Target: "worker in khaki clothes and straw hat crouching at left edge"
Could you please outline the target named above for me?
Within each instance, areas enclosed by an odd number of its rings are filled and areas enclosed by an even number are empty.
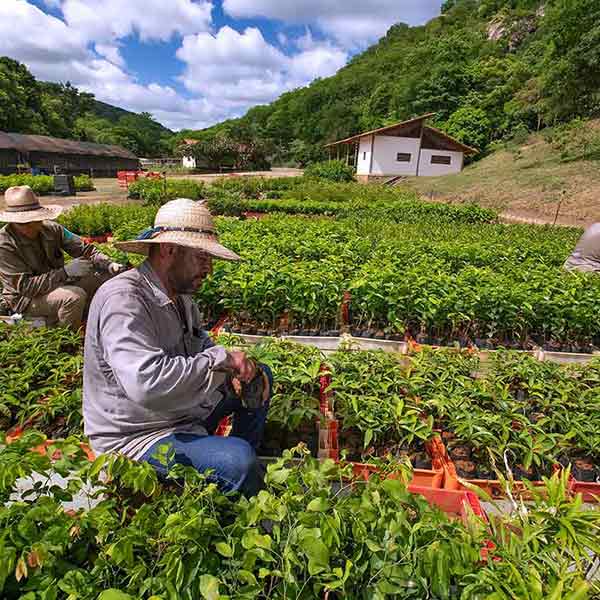
[[[44,317],[77,329],[100,285],[124,270],[55,219],[60,206],[42,206],[29,186],[4,194],[0,221],[0,282],[12,313]],[[74,258],[65,265],[63,252]]]

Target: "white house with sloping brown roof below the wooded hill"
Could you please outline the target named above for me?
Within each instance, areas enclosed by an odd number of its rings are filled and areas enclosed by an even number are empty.
[[[432,116],[430,113],[327,144],[329,156],[353,162],[356,178],[365,183],[402,175],[460,173],[465,155],[476,154],[477,150],[425,125]]]

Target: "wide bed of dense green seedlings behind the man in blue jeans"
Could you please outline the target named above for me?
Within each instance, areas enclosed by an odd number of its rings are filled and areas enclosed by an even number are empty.
[[[63,222],[89,235],[98,220],[99,229],[125,239],[150,225],[155,211],[78,207]],[[197,295],[207,324],[228,314],[237,331],[259,335],[345,328],[484,349],[590,352],[600,345],[598,278],[562,270],[576,229],[281,215],[222,218],[218,228],[244,260],[215,263]]]

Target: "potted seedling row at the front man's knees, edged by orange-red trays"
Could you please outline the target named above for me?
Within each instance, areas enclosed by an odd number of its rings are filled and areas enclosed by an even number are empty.
[[[0,328],[3,429],[35,426],[49,437],[81,433],[81,339],[63,329]],[[243,345],[235,335],[218,343]],[[276,386],[266,456],[304,442],[316,455],[321,376],[330,371],[339,448],[357,462],[392,455],[431,469],[426,444],[441,433],[458,475],[539,480],[554,465],[576,479],[600,478],[600,360],[563,366],[499,352],[484,369],[472,351],[424,350],[412,356],[339,351],[271,339],[248,347],[268,364]],[[330,388],[330,389],[329,389]],[[322,424],[324,426],[324,423]]]

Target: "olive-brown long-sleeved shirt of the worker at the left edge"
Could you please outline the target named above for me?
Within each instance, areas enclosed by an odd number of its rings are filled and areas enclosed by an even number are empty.
[[[31,300],[67,283],[63,251],[87,258],[100,270],[110,259],[78,235],[54,221],[44,221],[40,236],[31,240],[10,225],[0,230],[0,282],[2,296],[16,313],[24,313]]]

